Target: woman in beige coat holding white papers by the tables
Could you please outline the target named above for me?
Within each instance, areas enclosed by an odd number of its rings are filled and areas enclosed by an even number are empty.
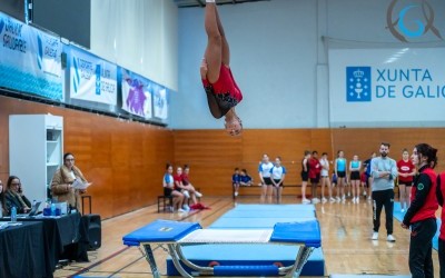
[[[75,156],[70,152],[63,155],[63,165],[56,170],[51,182],[52,198],[57,201],[67,201],[71,209],[80,210],[80,195],[85,193],[86,189],[75,189],[72,183],[79,179],[87,183],[87,179],[79,168],[75,166]]]

